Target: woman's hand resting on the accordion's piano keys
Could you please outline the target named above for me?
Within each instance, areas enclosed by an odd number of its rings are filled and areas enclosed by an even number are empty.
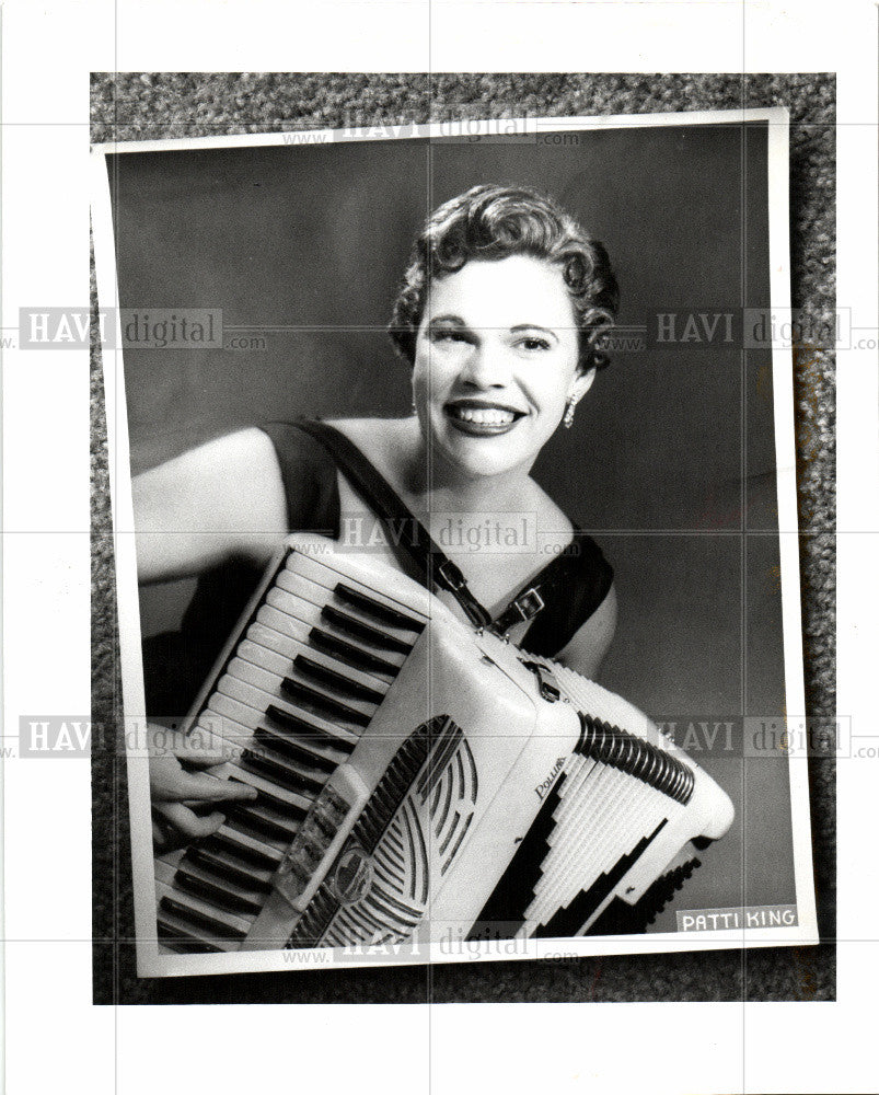
[[[184,735],[163,726],[148,726],[150,793],[153,807],[153,840],[164,851],[182,842],[216,832],[225,820],[220,810],[200,816],[193,809],[208,803],[253,800],[256,788],[207,772],[188,772],[183,764],[200,768],[222,764],[228,750],[217,739],[195,729]],[[182,763],[183,762],[183,763]]]

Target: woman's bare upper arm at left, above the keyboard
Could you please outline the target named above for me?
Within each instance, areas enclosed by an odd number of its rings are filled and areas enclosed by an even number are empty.
[[[141,583],[197,575],[234,555],[267,561],[287,533],[278,459],[256,428],[143,472],[132,493]]]

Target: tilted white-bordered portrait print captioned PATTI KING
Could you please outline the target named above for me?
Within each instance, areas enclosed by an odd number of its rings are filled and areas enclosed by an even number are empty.
[[[139,976],[817,942],[787,124],[95,147]]]

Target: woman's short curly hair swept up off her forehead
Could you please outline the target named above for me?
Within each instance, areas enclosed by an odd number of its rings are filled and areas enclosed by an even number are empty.
[[[453,274],[470,260],[531,255],[562,269],[580,337],[579,368],[610,364],[606,336],[620,290],[608,252],[552,198],[523,186],[474,186],[436,209],[415,241],[388,332],[412,365],[432,278]]]

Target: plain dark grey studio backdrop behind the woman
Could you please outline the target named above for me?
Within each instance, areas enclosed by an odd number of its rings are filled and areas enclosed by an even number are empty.
[[[224,349],[126,350],[132,472],[265,417],[408,413],[384,324],[424,217],[476,183],[547,191],[608,246],[641,339],[536,468],[616,573],[602,683],[679,725],[780,715],[771,359],[742,354],[738,324],[770,302],[766,143],[764,124],[724,124],[111,158],[120,306],[221,309],[227,332]],[[680,334],[691,312],[733,313],[736,337],[658,342],[660,313]],[[234,326],[263,342],[233,348]],[[144,635],[192,588],[143,590]],[[787,765],[694,756],[737,820],[676,907],[793,902]]]

